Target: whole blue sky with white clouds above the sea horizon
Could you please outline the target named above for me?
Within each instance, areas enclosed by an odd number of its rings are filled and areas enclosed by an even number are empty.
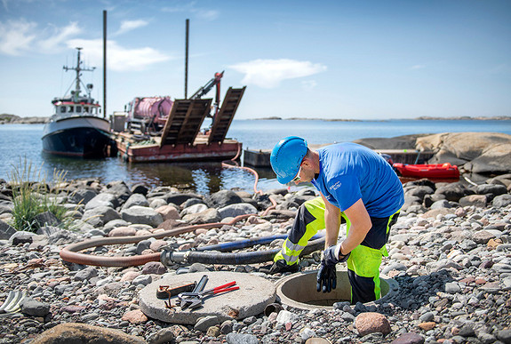
[[[225,70],[236,119],[511,116],[508,0],[1,0],[0,114],[51,116],[82,47],[107,113],[188,96]],[[213,98],[210,92],[204,98]]]

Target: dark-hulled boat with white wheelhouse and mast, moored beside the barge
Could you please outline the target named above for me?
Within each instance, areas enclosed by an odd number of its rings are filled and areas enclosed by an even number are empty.
[[[110,123],[100,116],[100,104],[91,97],[92,84],[84,85],[80,79],[81,72],[94,68],[82,68],[82,48],[76,50],[76,67],[64,66],[66,71],[76,71],[75,89],[69,95],[52,100],[54,114],[44,125],[43,151],[55,156],[110,156],[111,148],[115,148],[109,134]]]

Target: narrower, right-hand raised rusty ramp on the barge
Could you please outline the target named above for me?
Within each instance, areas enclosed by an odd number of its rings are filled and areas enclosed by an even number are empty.
[[[222,102],[219,114],[215,116],[213,120],[212,132],[210,132],[208,143],[223,142],[226,138],[229,126],[236,114],[236,109],[244,95],[245,88],[246,86],[244,88],[229,87],[226,97]]]

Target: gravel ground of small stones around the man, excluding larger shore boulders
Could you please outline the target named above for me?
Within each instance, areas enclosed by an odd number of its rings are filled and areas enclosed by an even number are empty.
[[[347,302],[338,302],[331,310],[311,311],[283,305],[278,316],[276,313],[260,314],[221,324],[207,317],[187,326],[148,319],[139,309],[138,292],[164,274],[204,269],[252,273],[272,281],[282,276],[261,272],[267,264],[220,266],[196,263],[171,268],[164,268],[157,262],[131,268],[64,264],[59,252],[67,244],[91,237],[112,236],[114,229],[134,230],[137,235],[162,230],[156,229],[160,225],[148,225],[147,218],[135,223],[126,221],[124,215],[120,216],[122,219],[107,223],[87,222],[80,218],[80,214],[88,210],[80,209],[76,215],[78,231],[46,227],[40,235],[18,232],[8,240],[0,240],[0,303],[11,291],[24,291],[28,295],[20,313],[0,315],[0,343],[29,343],[45,330],[67,323],[117,329],[150,343],[301,343],[311,337],[332,343],[511,343],[511,200],[508,191],[478,194],[473,188],[473,193],[465,192],[467,195],[453,201],[438,196],[444,184],[427,184],[427,187],[431,190],[424,192],[426,186],[421,183],[404,186],[407,203],[392,229],[387,244],[389,256],[384,258],[381,266],[382,273],[399,284],[399,292],[385,302],[353,307]],[[96,185],[95,198],[104,195],[104,189],[104,186]],[[230,219],[226,207],[247,204],[249,197],[241,195],[243,199],[238,204],[220,207],[212,204],[213,196],[205,204],[189,202],[191,205],[181,203],[175,206],[168,202],[168,197],[161,196],[169,195],[169,192],[172,194],[176,190],[150,190],[143,196],[147,204],[137,193],[131,192],[124,200],[117,195],[117,200],[121,201],[110,208],[124,212],[126,204],[136,194],[142,202],[138,203],[139,207],[172,206],[179,210],[181,219],[189,214],[204,216],[204,212],[217,209],[223,214],[220,218],[226,221]],[[163,245],[187,249],[285,234],[292,222],[289,211],[296,210],[296,206],[311,197],[312,191],[302,189],[287,195],[285,190],[274,192],[272,196],[279,204],[278,210],[263,219],[252,217],[234,226],[199,229],[195,233],[165,240],[149,239],[139,244],[100,246],[86,252],[130,256],[158,252]],[[484,202],[480,196],[485,197]],[[258,202],[259,206],[264,203]],[[63,203],[69,204],[69,200]],[[204,206],[201,208],[197,204]],[[252,207],[255,205],[252,202]],[[189,208],[194,206],[202,210],[191,211]],[[188,212],[184,212],[185,209]],[[161,220],[168,217],[168,212],[161,209],[159,212],[163,214]],[[0,219],[9,220],[8,212],[4,212]],[[282,240],[276,240],[270,248],[280,247],[280,244]],[[260,249],[263,247],[252,248]],[[316,269],[318,262],[319,254],[314,253],[303,258],[300,267],[302,270]],[[390,329],[379,330],[378,324],[372,324],[374,332],[362,335],[362,323],[355,319],[368,312],[384,316]]]

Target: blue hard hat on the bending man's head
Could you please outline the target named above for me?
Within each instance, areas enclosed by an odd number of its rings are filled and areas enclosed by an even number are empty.
[[[269,157],[276,179],[289,183],[299,172],[299,165],[307,154],[307,141],[298,136],[288,136],[278,141]]]

